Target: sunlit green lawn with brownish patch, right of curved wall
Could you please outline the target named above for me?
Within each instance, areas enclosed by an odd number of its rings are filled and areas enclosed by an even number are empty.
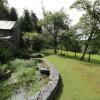
[[[45,58],[56,66],[62,77],[58,100],[100,100],[100,64],[56,55]]]

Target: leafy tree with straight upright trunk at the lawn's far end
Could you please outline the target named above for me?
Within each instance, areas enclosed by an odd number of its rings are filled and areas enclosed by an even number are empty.
[[[64,12],[44,12],[44,19],[41,21],[43,31],[48,33],[53,41],[54,53],[57,53],[59,34],[62,30],[68,29],[69,18]]]

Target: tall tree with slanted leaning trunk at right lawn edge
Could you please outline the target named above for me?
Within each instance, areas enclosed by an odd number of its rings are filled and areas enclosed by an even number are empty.
[[[93,37],[96,37],[99,29],[100,23],[100,0],[95,0],[90,2],[88,0],[77,0],[71,8],[77,8],[79,10],[84,10],[86,14],[80,20],[80,29],[83,34],[87,34],[87,40],[85,42],[85,49],[81,60],[84,60],[85,54],[90,46]]]

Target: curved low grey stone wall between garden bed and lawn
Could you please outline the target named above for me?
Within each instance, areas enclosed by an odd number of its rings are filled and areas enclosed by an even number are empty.
[[[50,76],[49,82],[47,85],[41,88],[35,95],[29,97],[28,100],[53,100],[55,97],[60,83],[60,76],[58,71],[55,69],[53,64],[50,64],[46,60],[43,62],[49,67],[50,69]]]

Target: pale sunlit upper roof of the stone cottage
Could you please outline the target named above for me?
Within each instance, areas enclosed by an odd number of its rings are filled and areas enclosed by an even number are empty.
[[[2,20],[0,20],[0,29],[11,30],[14,27],[15,23],[16,23],[16,21],[2,21]]]

